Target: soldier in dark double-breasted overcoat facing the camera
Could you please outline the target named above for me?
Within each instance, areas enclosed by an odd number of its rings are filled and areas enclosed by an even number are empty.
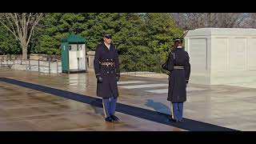
[[[120,78],[118,50],[112,44],[112,35],[104,34],[103,42],[95,50],[94,71],[97,78],[97,95],[102,98],[102,106],[107,122],[118,121],[114,115],[118,99]]]

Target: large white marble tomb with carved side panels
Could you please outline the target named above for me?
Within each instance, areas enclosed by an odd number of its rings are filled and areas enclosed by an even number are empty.
[[[190,83],[256,82],[256,29],[201,28],[185,37]]]

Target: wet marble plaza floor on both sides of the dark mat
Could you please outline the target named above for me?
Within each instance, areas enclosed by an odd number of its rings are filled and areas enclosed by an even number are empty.
[[[94,73],[38,74],[0,67],[0,78],[98,98]],[[166,78],[122,75],[118,102],[170,114],[167,88]],[[234,130],[256,130],[255,102],[254,88],[189,84],[184,117]],[[123,112],[116,115],[120,122],[105,122],[101,107],[0,81],[0,130],[188,130]]]

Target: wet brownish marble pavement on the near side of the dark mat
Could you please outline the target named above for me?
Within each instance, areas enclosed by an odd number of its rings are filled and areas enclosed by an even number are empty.
[[[0,82],[0,130],[170,130],[173,126],[118,113],[105,122],[102,108]]]

